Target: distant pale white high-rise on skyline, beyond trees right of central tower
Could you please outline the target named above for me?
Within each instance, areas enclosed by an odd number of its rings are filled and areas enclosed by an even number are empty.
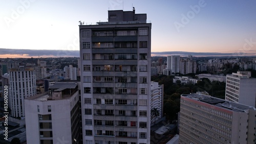
[[[170,74],[180,73],[180,56],[167,56],[167,67]]]

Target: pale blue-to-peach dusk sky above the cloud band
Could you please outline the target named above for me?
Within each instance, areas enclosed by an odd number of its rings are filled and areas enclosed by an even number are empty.
[[[79,50],[79,20],[108,21],[108,10],[146,13],[152,52],[251,53],[256,1],[0,0],[0,48]],[[2,55],[6,57],[7,54]],[[1,57],[1,50],[0,50]]]

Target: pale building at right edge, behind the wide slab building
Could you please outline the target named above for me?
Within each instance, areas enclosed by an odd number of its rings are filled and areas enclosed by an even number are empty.
[[[237,71],[226,76],[225,100],[256,106],[256,79],[251,78],[251,71]]]

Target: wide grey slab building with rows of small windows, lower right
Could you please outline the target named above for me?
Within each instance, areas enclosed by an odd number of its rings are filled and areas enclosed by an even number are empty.
[[[179,143],[255,143],[256,109],[203,94],[182,94]]]

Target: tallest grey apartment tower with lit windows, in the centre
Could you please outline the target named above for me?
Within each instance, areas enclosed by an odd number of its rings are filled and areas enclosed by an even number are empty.
[[[151,23],[146,14],[108,11],[80,25],[84,143],[150,143]]]

